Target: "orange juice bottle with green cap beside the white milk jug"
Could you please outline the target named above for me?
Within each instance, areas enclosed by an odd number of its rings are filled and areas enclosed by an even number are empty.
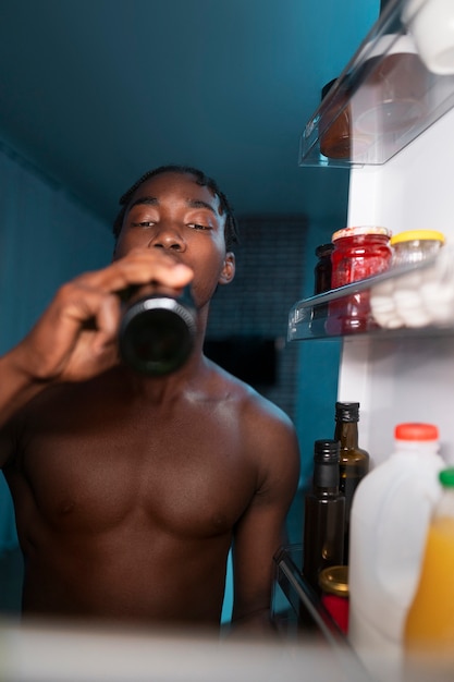
[[[419,585],[408,611],[409,650],[454,650],[454,468],[440,472],[442,495],[426,539]]]

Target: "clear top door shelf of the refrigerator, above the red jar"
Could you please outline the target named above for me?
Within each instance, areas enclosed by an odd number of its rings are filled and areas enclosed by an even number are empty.
[[[386,5],[324,96],[300,137],[300,166],[382,165],[454,106],[454,74],[425,66],[404,5]]]

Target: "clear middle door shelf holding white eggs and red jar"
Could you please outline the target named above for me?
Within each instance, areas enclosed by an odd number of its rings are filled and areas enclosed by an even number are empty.
[[[357,309],[363,324],[355,328]],[[345,317],[354,320],[348,331]],[[449,246],[435,257],[299,301],[289,314],[289,341],[453,334],[454,249]]]

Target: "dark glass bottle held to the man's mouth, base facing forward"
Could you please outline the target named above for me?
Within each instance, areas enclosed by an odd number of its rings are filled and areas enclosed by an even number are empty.
[[[187,361],[195,334],[196,309],[188,287],[179,299],[154,285],[139,288],[123,313],[120,354],[140,374],[164,376]]]

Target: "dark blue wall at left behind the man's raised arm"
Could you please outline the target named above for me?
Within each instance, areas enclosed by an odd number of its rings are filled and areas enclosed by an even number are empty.
[[[11,149],[0,146],[0,353],[27,333],[57,288],[109,263],[105,224]],[[9,489],[0,476],[0,551],[17,538]]]

